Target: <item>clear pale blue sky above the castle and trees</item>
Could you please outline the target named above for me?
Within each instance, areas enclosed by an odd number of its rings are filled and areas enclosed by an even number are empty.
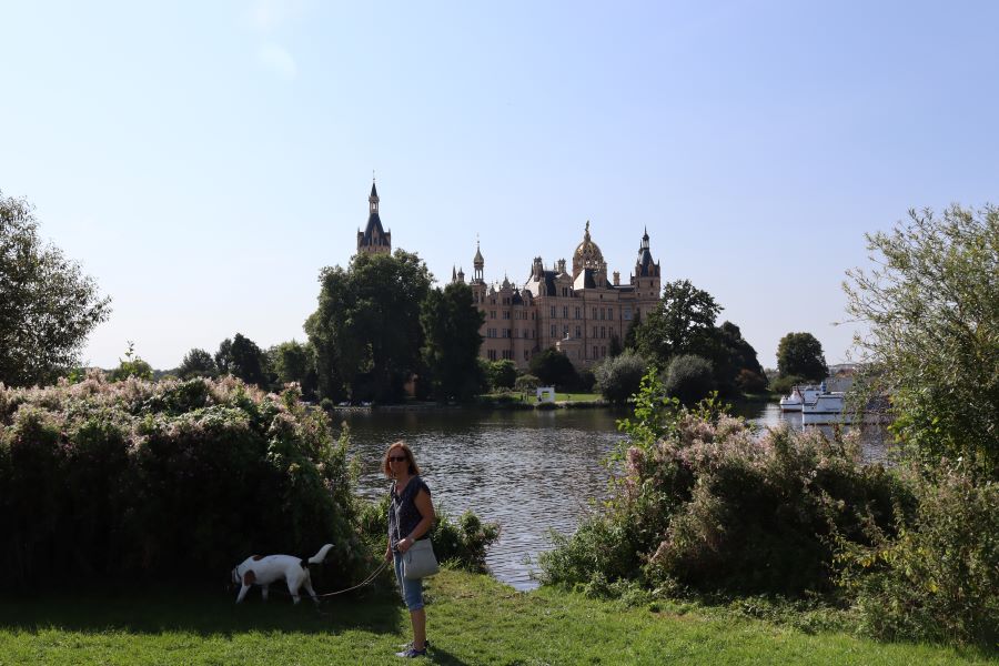
[[[440,280],[583,226],[829,362],[864,233],[997,202],[999,3],[4,2],[0,189],[113,299],[85,360],[304,340],[372,170]],[[625,278],[626,279],[626,278]]]

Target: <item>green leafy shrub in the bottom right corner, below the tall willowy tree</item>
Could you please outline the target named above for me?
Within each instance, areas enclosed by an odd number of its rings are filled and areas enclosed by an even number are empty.
[[[936,482],[912,475],[915,517],[897,516],[892,538],[840,539],[839,583],[856,596],[862,628],[879,638],[999,639],[999,485],[960,468]]]

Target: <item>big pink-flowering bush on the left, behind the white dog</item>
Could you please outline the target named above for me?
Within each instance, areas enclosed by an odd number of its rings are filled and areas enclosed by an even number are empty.
[[[221,581],[324,543],[326,574],[352,577],[346,442],[299,397],[232,377],[0,384],[0,586]]]

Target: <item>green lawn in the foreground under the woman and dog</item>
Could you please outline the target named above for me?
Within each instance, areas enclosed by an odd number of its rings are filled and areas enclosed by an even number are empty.
[[[387,594],[311,604],[223,593],[0,602],[0,664],[397,664],[408,615]],[[729,612],[517,593],[445,571],[427,584],[433,664],[983,664],[977,650],[810,635]]]

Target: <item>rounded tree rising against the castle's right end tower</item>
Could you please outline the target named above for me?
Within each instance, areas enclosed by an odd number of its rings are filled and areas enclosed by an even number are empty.
[[[715,320],[722,310],[714,296],[689,280],[667,283],[658,307],[635,332],[638,352],[658,367],[678,354],[715,356],[719,344]]]

